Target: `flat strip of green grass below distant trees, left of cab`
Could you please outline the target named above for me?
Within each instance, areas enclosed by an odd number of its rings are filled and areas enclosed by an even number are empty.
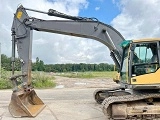
[[[69,72],[59,73],[59,76],[69,78],[113,78],[116,75],[116,71],[103,71],[103,72]]]

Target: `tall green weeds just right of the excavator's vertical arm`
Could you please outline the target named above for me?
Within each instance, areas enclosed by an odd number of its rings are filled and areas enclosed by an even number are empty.
[[[33,72],[32,85],[35,88],[52,88],[56,86],[54,79],[53,76],[48,75],[47,73]]]

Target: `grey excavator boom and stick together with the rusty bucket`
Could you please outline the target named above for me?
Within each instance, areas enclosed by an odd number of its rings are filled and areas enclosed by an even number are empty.
[[[34,17],[29,17],[27,10],[44,13],[49,16],[56,16],[68,20],[42,20]],[[83,18],[66,15],[50,9],[49,12],[43,12],[33,9],[24,8],[22,5],[18,7],[13,24],[12,24],[12,77],[14,92],[12,94],[10,112],[13,116],[21,116],[18,112],[13,112],[16,102],[28,101],[32,103],[32,107],[41,105],[39,109],[43,109],[43,102],[36,96],[36,93],[31,86],[31,61],[32,61],[32,33],[33,30],[58,33],[82,38],[90,38],[97,40],[106,45],[110,50],[110,55],[113,58],[118,69],[121,66],[122,48],[120,43],[124,40],[123,36],[110,25],[99,22],[92,18]],[[17,45],[18,55],[21,61],[22,74],[14,75],[15,47]],[[22,84],[18,85],[17,78],[21,77]],[[19,93],[22,93],[19,95]],[[23,96],[23,97],[21,97]],[[25,97],[24,97],[25,96]],[[22,98],[22,99],[21,99]],[[21,101],[17,101],[17,100]],[[14,101],[14,102],[13,102]],[[37,101],[38,104],[36,103]],[[22,102],[23,103],[23,102]],[[34,104],[33,104],[34,103]],[[18,110],[19,110],[19,105]],[[36,112],[31,113],[28,104],[24,105],[22,116],[36,116]],[[27,110],[24,110],[27,108]],[[18,111],[17,110],[17,111]],[[38,111],[40,111],[38,110]],[[17,114],[18,113],[18,114]]]

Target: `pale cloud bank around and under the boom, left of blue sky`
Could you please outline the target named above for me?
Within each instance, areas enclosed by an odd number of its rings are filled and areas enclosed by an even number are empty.
[[[0,42],[2,53],[11,56],[11,26],[13,13],[19,4],[26,8],[48,11],[52,8],[57,11],[78,16],[81,9],[86,9],[86,0],[1,0],[0,4]],[[38,4],[37,4],[38,3]],[[60,19],[44,14],[29,12],[29,16],[41,19]],[[34,31],[32,58],[42,59],[45,63],[112,63],[108,48],[95,40],[82,39],[66,35],[51,34]]]

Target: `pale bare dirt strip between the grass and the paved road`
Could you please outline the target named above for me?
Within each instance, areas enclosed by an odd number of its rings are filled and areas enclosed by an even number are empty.
[[[111,78],[67,78],[55,76],[56,88],[111,88],[118,86]]]

